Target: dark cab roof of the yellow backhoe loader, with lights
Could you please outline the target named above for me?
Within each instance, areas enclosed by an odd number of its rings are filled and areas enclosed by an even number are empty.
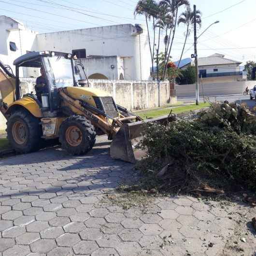
[[[14,66],[22,67],[32,67],[40,68],[42,66],[41,56],[47,57],[52,56],[52,52],[43,51],[43,52],[29,52],[24,54],[14,60]],[[67,57],[68,53],[54,52],[55,56],[64,56]]]

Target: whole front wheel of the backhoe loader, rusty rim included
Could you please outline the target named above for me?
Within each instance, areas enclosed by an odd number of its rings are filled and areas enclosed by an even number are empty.
[[[84,116],[72,115],[59,128],[61,147],[72,155],[85,155],[92,149],[95,141],[95,128]]]

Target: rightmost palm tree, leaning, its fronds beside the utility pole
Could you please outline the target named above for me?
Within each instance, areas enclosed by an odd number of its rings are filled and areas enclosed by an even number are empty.
[[[200,28],[201,28],[201,23],[202,23],[201,15],[202,15],[202,13],[199,10],[197,10],[196,11],[196,23],[199,24]],[[192,24],[194,24],[194,12],[191,10],[190,6],[187,6],[186,11],[183,12],[182,14],[180,14],[179,19],[178,19],[178,26],[181,23],[183,23],[186,26],[186,32],[185,32],[185,42],[184,42],[184,45],[183,45],[183,49],[182,49],[181,57],[180,57],[180,60],[179,60],[178,68],[180,66],[180,62],[181,62],[181,59],[182,59],[182,56],[183,56],[183,52],[184,52],[187,37],[190,34],[189,27]]]

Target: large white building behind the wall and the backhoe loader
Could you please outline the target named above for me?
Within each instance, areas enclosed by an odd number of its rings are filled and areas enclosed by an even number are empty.
[[[149,80],[150,53],[140,25],[114,25],[38,34],[10,17],[0,16],[0,60],[12,66],[27,51],[75,51],[92,78]],[[2,36],[3,35],[3,36]],[[13,46],[15,45],[15,47]],[[90,56],[85,59],[85,56]],[[24,69],[23,76],[37,76]]]

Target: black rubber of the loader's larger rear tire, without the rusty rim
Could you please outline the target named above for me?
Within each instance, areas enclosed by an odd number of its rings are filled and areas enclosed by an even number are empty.
[[[18,145],[13,139],[12,124],[13,121],[17,119],[22,119],[28,126],[29,138],[26,145]],[[41,144],[40,142],[42,140],[42,128],[39,123],[40,120],[30,114],[27,110],[18,110],[11,114],[6,123],[6,131],[7,138],[16,152],[27,154],[39,150]]]

